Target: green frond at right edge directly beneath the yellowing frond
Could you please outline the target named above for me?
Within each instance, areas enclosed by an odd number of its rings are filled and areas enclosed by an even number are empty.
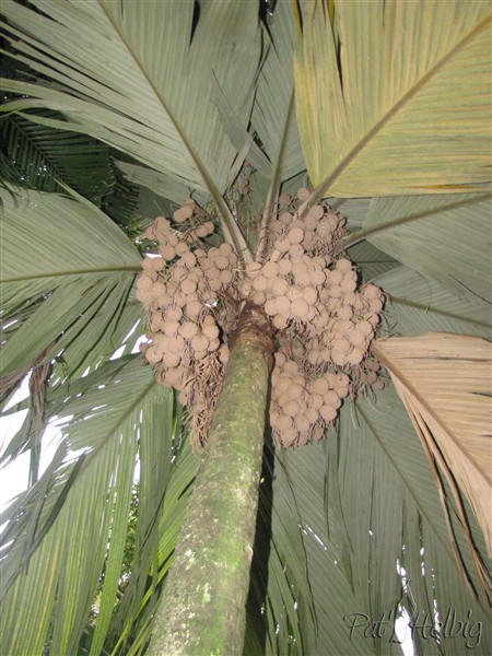
[[[490,211],[488,194],[377,198],[345,246],[367,238],[455,294],[490,300]]]

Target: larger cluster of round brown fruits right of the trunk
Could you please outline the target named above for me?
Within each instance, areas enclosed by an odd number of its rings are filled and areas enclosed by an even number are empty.
[[[271,224],[267,258],[246,267],[243,291],[279,330],[270,424],[274,444],[285,447],[319,438],[349,390],[376,382],[364,361],[384,296],[373,284],[358,291],[356,271],[341,256],[342,216],[317,204],[300,218],[302,192],[282,200],[293,211]]]

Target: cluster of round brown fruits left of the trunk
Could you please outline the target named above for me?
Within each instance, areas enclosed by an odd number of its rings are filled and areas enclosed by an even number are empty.
[[[191,212],[191,213],[190,213]],[[191,219],[192,206],[174,213],[175,223]],[[200,230],[201,229],[201,230]],[[157,218],[145,232],[157,243],[137,280],[137,298],[148,313],[148,342],[142,344],[160,383],[179,391],[192,430],[203,441],[209,409],[214,406],[229,348],[222,339],[237,298],[237,256],[229,244],[200,248],[213,223],[179,232]]]

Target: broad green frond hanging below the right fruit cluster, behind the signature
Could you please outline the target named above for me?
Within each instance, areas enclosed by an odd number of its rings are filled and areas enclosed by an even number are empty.
[[[360,400],[355,414],[343,408],[338,434],[286,456],[317,614],[314,653],[400,654],[390,614],[399,604],[410,616],[417,607],[421,620],[429,612],[429,623],[436,598],[444,616],[456,608],[458,614],[466,618],[470,611],[473,622],[489,625],[487,610],[469,595],[456,567],[426,458],[393,388],[380,395],[376,407]],[[484,550],[471,512],[470,523]],[[466,549],[462,540],[460,547]],[[469,558],[466,564],[479,586]],[[383,639],[372,640],[364,619],[382,618],[388,622]],[[351,633],[354,620],[363,625]],[[364,635],[365,629],[370,634]],[[442,640],[452,653],[466,648],[462,635],[458,643]],[[430,641],[423,642],[423,653],[433,653]]]

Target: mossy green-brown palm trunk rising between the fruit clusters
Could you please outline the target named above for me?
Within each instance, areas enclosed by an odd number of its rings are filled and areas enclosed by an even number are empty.
[[[255,538],[271,326],[246,304],[149,654],[242,654]]]

